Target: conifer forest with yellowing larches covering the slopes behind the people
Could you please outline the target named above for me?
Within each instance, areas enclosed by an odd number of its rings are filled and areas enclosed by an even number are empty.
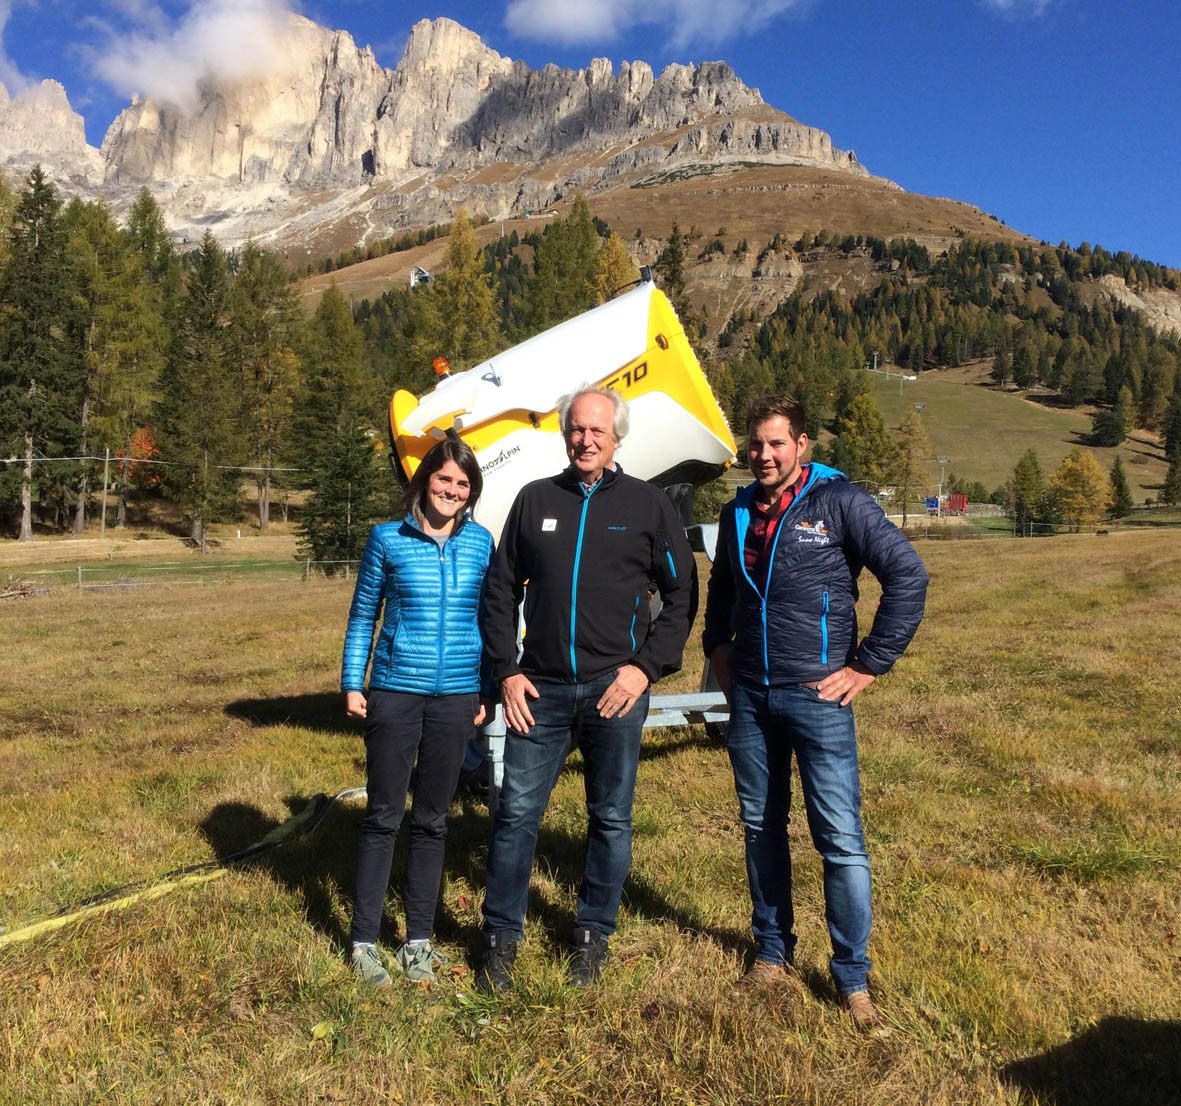
[[[0,181],[0,533],[84,532],[109,454],[116,525],[163,500],[202,540],[209,522],[243,516],[249,484],[254,525],[265,531],[272,500],[286,512],[299,492],[308,553],[355,555],[397,496],[383,456],[393,388],[422,392],[435,357],[477,364],[638,275],[582,197],[543,233],[482,249],[462,212],[419,236],[443,229],[443,269],[429,284],[357,305],[329,288],[308,315],[293,274],[256,245],[228,254],[207,233],[178,254],[146,190],[120,225],[102,203],[64,200],[39,169],[19,188]],[[379,253],[416,243],[403,235]],[[805,281],[766,318],[710,320],[686,271],[727,248],[674,226],[655,268],[737,428],[752,397],[794,391],[813,437],[833,435],[827,460],[864,482],[896,479],[908,447],[886,430],[862,366],[874,353],[914,372],[984,358],[999,385],[1094,405],[1100,444],[1137,427],[1161,432],[1172,462],[1162,499],[1181,497],[1181,341],[1096,294],[1107,274],[1175,291],[1175,271],[1087,243],[961,240],[932,256],[909,240],[821,229],[777,235],[752,264],[836,253],[880,274],[872,291],[850,301]],[[733,252],[752,251],[742,241]]]

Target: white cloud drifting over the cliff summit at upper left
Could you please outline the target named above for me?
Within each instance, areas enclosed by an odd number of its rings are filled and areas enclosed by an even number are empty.
[[[116,6],[132,30],[110,33],[89,59],[96,76],[124,96],[191,111],[202,82],[242,80],[283,64],[291,11],[285,0],[194,0],[180,19],[148,0],[117,0]]]

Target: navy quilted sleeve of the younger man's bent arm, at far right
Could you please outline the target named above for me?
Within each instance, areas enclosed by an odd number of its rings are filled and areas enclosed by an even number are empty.
[[[875,676],[890,670],[919,629],[927,570],[903,534],[868,495],[856,489],[844,519],[846,555],[864,565],[882,586],[874,624],[855,650]]]

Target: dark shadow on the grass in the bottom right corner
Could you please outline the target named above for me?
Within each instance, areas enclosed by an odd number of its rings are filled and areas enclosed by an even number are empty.
[[[1167,1106],[1181,1102],[1181,1022],[1104,1017],[1038,1056],[1000,1069],[1048,1106]]]

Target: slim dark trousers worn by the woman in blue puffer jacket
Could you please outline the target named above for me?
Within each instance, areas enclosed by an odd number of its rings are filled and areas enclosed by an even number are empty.
[[[351,937],[377,941],[385,892],[390,886],[393,845],[406,809],[410,774],[418,760],[415,804],[410,811],[406,858],[406,939],[435,932],[435,906],[443,878],[443,845],[459,766],[479,697],[409,695],[370,690],[365,720],[365,767],[368,806],[357,848],[357,890]]]

